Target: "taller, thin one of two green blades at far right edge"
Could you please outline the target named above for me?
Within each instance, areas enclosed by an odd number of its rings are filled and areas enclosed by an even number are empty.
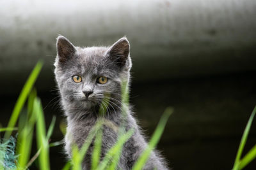
[[[253,117],[255,116],[255,113],[256,113],[256,106],[253,109],[252,115],[250,116],[250,118],[248,120],[248,123],[246,124],[246,127],[244,129],[244,133],[243,133],[243,136],[242,136],[242,139],[241,139],[241,142],[240,142],[237,154],[236,154],[236,160],[235,160],[233,169],[237,169],[237,165],[239,164],[239,161],[240,161],[243,149],[244,149],[244,145],[246,143],[246,140],[247,140],[247,137],[248,137],[251,125],[252,125],[252,120],[253,120]]]

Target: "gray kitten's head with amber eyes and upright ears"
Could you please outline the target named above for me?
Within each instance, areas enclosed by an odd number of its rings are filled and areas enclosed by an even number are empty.
[[[126,38],[110,47],[81,48],[58,36],[54,73],[64,110],[90,110],[106,94],[118,106],[121,84],[129,82],[131,65]]]

